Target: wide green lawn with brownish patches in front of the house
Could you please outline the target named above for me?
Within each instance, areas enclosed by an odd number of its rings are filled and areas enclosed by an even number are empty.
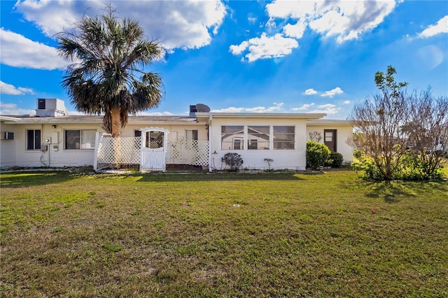
[[[1,297],[448,297],[446,181],[0,178]]]

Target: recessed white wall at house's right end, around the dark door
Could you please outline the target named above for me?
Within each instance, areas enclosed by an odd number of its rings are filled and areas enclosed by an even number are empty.
[[[307,125],[307,140],[309,140],[309,134],[311,132],[318,132],[321,134],[322,139],[320,143],[323,143],[323,131],[324,129],[337,129],[336,138],[336,151],[341,153],[344,157],[344,163],[349,164],[353,162],[353,148],[346,143],[346,140],[353,134],[353,128],[350,125],[335,125],[335,124],[314,124],[308,123]]]

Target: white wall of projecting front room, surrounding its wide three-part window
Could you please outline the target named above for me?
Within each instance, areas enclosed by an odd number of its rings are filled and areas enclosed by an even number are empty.
[[[274,125],[295,127],[294,150],[221,150],[221,126],[222,125]],[[225,164],[221,158],[228,152],[236,152],[244,161],[243,168],[268,169],[265,158],[274,159],[271,169],[303,170],[306,166],[306,120],[293,118],[213,118],[211,122],[211,168],[224,169]],[[247,139],[245,139],[247,142]]]

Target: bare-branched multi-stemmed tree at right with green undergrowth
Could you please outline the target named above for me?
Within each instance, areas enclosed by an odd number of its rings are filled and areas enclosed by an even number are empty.
[[[448,98],[435,99],[430,89],[409,93],[395,73],[388,66],[375,74],[381,93],[353,108],[349,120],[358,132],[348,143],[372,160],[383,180],[432,179],[448,150]]]

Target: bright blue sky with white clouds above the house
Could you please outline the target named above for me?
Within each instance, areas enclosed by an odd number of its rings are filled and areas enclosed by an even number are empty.
[[[66,63],[57,32],[104,1],[1,1],[0,108],[32,114],[58,98]],[[165,99],[141,115],[216,112],[327,113],[345,119],[377,93],[374,73],[397,70],[410,89],[448,95],[448,1],[111,1],[169,52]]]

